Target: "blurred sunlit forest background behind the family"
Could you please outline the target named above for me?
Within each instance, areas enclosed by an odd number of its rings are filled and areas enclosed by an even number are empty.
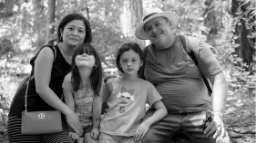
[[[176,12],[177,33],[210,45],[229,83],[225,123],[231,142],[256,142],[256,0],[0,0],[0,142],[8,142],[8,110],[31,71],[30,59],[44,44],[56,43],[56,25],[66,14],[87,17],[105,77],[113,77],[122,43],[149,43],[134,36],[147,7]]]

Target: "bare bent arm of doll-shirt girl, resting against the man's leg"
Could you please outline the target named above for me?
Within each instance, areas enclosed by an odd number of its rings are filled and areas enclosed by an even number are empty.
[[[156,111],[150,118],[146,119],[144,122],[142,122],[138,126],[138,129],[136,130],[134,135],[135,141],[138,141],[139,139],[144,138],[150,126],[155,122],[159,121],[160,119],[163,119],[168,114],[162,100],[156,101],[153,105]]]

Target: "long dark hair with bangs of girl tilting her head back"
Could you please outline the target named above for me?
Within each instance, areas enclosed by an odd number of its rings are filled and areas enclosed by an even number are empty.
[[[100,91],[102,79],[103,79],[103,71],[102,71],[102,66],[101,66],[101,62],[99,59],[99,55],[98,55],[97,51],[95,50],[95,48],[92,45],[90,45],[89,43],[82,43],[81,45],[79,45],[77,47],[77,49],[73,53],[72,65],[71,65],[71,74],[72,74],[71,81],[72,81],[73,91],[78,91],[80,88],[80,84],[81,84],[81,76],[77,69],[75,59],[78,54],[83,54],[83,53],[87,53],[89,55],[94,55],[94,57],[95,57],[95,66],[93,67],[93,70],[91,71],[89,80],[90,80],[91,88],[95,93],[95,96],[99,96],[99,91]]]

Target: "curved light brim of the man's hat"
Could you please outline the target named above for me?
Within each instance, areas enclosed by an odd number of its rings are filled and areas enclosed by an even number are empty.
[[[153,14],[153,15],[149,16],[146,20],[144,20],[141,24],[138,25],[138,27],[135,31],[135,36],[138,39],[148,40],[148,34],[145,33],[145,31],[144,31],[144,24],[146,24],[149,20],[151,20],[155,17],[166,17],[166,18],[168,18],[169,22],[171,24],[170,25],[171,28],[176,27],[179,24],[179,15],[175,14],[173,12],[164,11],[164,12],[159,13],[159,14]]]

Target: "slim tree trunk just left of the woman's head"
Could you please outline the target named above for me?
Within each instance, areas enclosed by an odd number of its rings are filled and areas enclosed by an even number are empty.
[[[56,0],[48,0],[48,17],[47,17],[47,41],[46,44],[54,45],[54,30],[53,23],[56,17]]]

